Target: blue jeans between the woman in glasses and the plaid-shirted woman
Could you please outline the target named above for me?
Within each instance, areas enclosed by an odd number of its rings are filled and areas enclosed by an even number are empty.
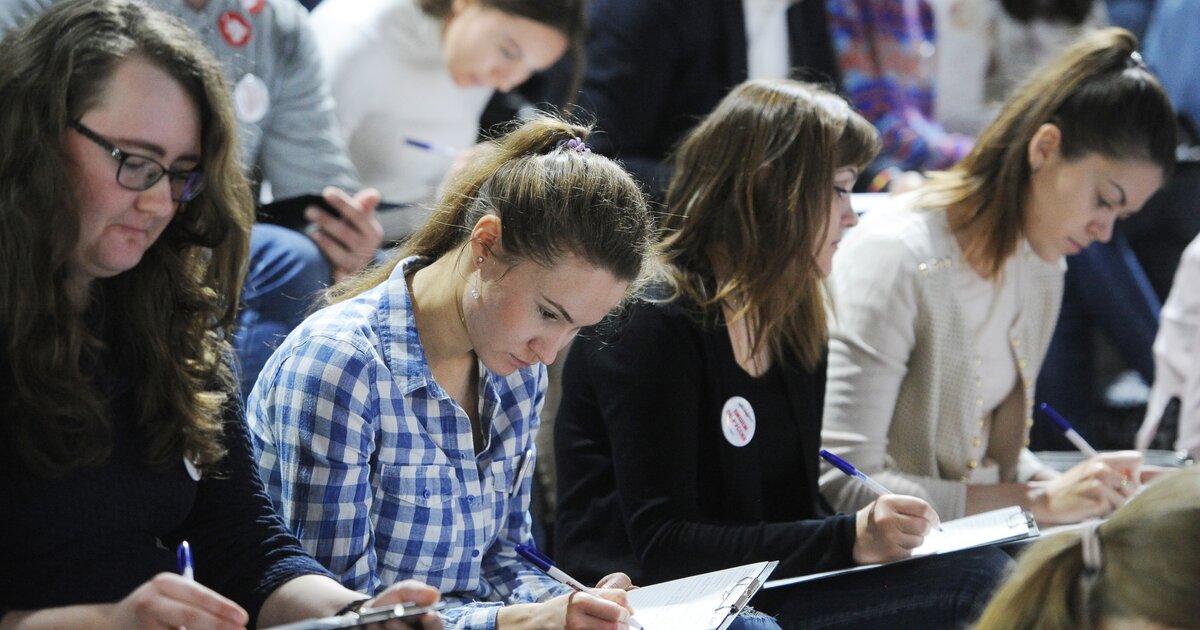
[[[329,262],[307,235],[278,226],[254,224],[233,336],[242,398],[250,396],[276,346],[300,325],[331,280]]]

